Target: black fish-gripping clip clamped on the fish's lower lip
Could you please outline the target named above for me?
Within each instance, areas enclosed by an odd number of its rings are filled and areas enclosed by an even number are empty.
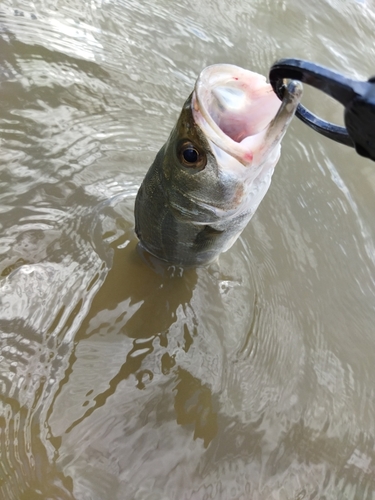
[[[282,99],[285,79],[299,80],[322,90],[344,107],[345,127],[329,123],[299,104],[296,116],[313,130],[375,161],[375,77],[351,80],[328,68],[301,59],[281,59],[271,68],[270,83]]]

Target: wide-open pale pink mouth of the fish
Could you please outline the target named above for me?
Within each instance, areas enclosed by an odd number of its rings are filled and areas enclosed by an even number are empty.
[[[294,82],[294,88],[286,93],[286,99],[299,100],[301,87]],[[280,102],[265,76],[231,64],[205,68],[192,97],[194,120],[206,138],[243,165],[251,164],[254,158],[259,162],[259,156],[266,150],[269,153],[270,146],[281,140],[280,127],[272,133],[272,125],[283,104],[285,108],[286,103]],[[284,132],[290,121],[287,114],[284,112],[280,120]],[[293,114],[294,109],[290,119]]]

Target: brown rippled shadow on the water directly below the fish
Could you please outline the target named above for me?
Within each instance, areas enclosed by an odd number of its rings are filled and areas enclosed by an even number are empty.
[[[112,269],[76,336],[78,343],[113,335],[125,336],[128,339],[126,350],[124,348],[125,361],[66,432],[104,407],[120,383],[131,376],[139,390],[152,384],[160,386],[172,379],[177,424],[192,428],[194,439],[202,439],[207,447],[217,433],[211,389],[176,361],[176,352],[187,355],[197,336],[198,318],[191,302],[198,272],[155,262],[152,268],[140,257],[136,244],[132,238],[125,248],[112,245]],[[77,350],[69,371],[75,369],[76,356]],[[158,381],[154,380],[155,374]],[[66,379],[64,383],[69,381]]]

